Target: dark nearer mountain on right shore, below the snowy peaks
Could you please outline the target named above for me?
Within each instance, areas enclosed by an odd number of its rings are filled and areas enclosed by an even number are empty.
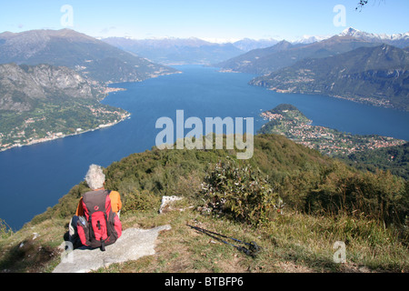
[[[250,84],[409,110],[409,52],[385,44],[363,46],[325,58],[305,58]]]

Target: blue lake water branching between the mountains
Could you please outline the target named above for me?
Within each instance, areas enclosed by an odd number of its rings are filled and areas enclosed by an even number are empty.
[[[321,95],[284,95],[247,85],[248,74],[218,73],[200,65],[176,66],[183,74],[165,75],[142,83],[125,83],[124,92],[108,95],[103,103],[132,114],[117,125],[62,139],[13,148],[0,153],[0,217],[18,229],[35,215],[54,206],[81,182],[88,166],[109,166],[133,153],[155,146],[159,117],[185,119],[254,117],[254,132],[264,120],[259,114],[282,103],[293,104],[314,125],[360,135],[386,135],[409,140],[409,113]],[[185,134],[190,131],[186,129]]]

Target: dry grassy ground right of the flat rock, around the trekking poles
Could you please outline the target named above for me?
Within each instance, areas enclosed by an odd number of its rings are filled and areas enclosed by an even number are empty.
[[[126,222],[128,221],[128,222]],[[99,272],[409,272],[409,252],[393,231],[364,217],[277,215],[268,226],[251,227],[195,210],[125,217],[130,226],[170,224],[159,236],[156,254],[115,264]],[[262,246],[252,258],[186,226],[186,223]],[[346,263],[334,263],[336,241],[346,244]]]

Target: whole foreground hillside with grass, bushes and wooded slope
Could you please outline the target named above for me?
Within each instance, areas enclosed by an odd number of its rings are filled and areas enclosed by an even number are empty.
[[[105,172],[107,186],[121,193],[124,228],[172,230],[159,236],[154,256],[100,272],[409,271],[408,183],[358,172],[284,136],[255,136],[249,161],[235,160],[232,150],[154,148]],[[0,228],[0,271],[51,271],[87,190],[85,182],[74,186],[16,233]],[[185,211],[159,215],[161,197],[172,195],[185,197]],[[263,250],[245,256],[186,223],[256,241]],[[335,241],[346,245],[345,264],[334,263]]]

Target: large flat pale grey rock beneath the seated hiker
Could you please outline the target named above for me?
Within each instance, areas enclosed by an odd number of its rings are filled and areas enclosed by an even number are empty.
[[[152,229],[127,228],[114,245],[105,246],[105,252],[99,248],[77,248],[66,253],[53,273],[86,273],[113,263],[154,255],[159,232],[169,229],[171,226],[158,226]]]

